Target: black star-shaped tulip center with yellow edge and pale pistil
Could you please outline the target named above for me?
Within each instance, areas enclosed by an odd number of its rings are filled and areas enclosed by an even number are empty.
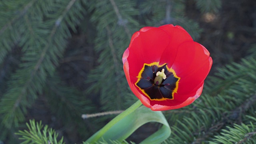
[[[174,92],[177,91],[179,79],[167,64],[162,66],[154,63],[144,64],[135,85],[151,100],[172,100]]]

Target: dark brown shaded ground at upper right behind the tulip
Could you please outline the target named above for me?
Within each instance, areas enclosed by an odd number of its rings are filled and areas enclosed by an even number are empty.
[[[216,67],[238,62],[248,55],[250,45],[256,43],[255,0],[223,0],[218,14],[203,15],[194,11],[193,0],[189,0],[187,14],[204,29],[198,42],[213,58],[211,73],[216,72]]]

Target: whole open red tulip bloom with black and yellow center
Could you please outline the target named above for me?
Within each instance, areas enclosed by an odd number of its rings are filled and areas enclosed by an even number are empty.
[[[122,60],[132,92],[151,110],[194,102],[212,66],[208,50],[172,24],[135,32]]]

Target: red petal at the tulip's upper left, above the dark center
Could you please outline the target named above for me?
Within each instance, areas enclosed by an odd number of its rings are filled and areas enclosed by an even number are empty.
[[[138,35],[138,36],[137,36]],[[160,28],[142,28],[133,36],[129,46],[130,74],[138,76],[144,63],[159,62],[160,57],[170,42],[169,35]]]

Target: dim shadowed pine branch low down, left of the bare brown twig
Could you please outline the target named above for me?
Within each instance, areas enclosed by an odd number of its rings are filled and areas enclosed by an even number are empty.
[[[47,79],[47,85],[44,88],[47,105],[54,116],[63,122],[62,130],[74,130],[73,133],[77,132],[76,135],[88,138],[102,125],[88,123],[88,121],[84,123],[81,115],[93,112],[96,107],[80,90],[64,83],[58,74]]]

